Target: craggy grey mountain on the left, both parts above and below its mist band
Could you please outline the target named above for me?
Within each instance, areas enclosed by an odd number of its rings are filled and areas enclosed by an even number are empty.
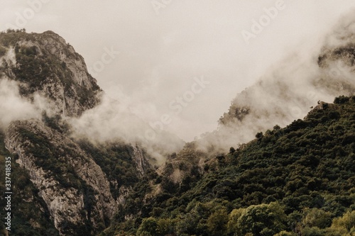
[[[1,140],[18,164],[13,163],[13,169],[26,169],[31,180],[22,186],[25,189],[16,183],[13,188],[32,196],[30,208],[41,206],[40,212],[50,220],[45,224],[53,224],[45,234],[94,235],[104,230],[131,186],[152,168],[151,158],[136,143],[71,137],[65,118],[98,106],[102,90],[82,56],[59,35],[0,33],[0,62],[1,79],[18,86],[18,99],[29,106],[38,97],[42,101],[35,118],[1,127]],[[4,150],[1,155],[6,155]],[[26,188],[36,190],[28,193]],[[26,210],[14,214],[12,232],[21,235],[23,228],[17,226],[31,216]],[[23,231],[41,235],[40,220],[31,218]]]

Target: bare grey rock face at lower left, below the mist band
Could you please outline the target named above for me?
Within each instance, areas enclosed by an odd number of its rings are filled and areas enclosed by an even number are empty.
[[[102,230],[116,210],[102,169],[65,135],[37,120],[16,121],[6,130],[6,147],[28,170],[62,235]],[[85,225],[92,229],[84,229]]]

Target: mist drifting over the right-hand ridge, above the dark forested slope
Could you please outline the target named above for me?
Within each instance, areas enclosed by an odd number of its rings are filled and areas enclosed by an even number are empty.
[[[321,101],[354,96],[355,66],[350,55],[327,58],[335,48],[354,46],[355,11],[343,16],[312,50],[295,51],[266,70],[256,84],[231,101],[219,128],[196,143],[205,152],[226,152],[255,139],[256,133],[303,119]]]

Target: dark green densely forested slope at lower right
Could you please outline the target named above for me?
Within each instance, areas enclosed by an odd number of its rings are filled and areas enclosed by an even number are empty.
[[[126,230],[119,235],[347,235],[355,228],[354,114],[355,96],[341,96],[210,159],[198,179],[164,185],[164,175],[152,174],[124,206],[130,220],[119,215],[114,228]]]

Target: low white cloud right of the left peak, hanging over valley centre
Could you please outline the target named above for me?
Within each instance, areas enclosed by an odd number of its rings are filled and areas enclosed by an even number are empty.
[[[137,143],[156,159],[157,164],[162,164],[168,154],[178,152],[185,144],[178,136],[151,127],[131,113],[125,103],[105,94],[98,106],[85,111],[80,118],[68,118],[67,121],[72,125],[72,136],[77,139]]]

